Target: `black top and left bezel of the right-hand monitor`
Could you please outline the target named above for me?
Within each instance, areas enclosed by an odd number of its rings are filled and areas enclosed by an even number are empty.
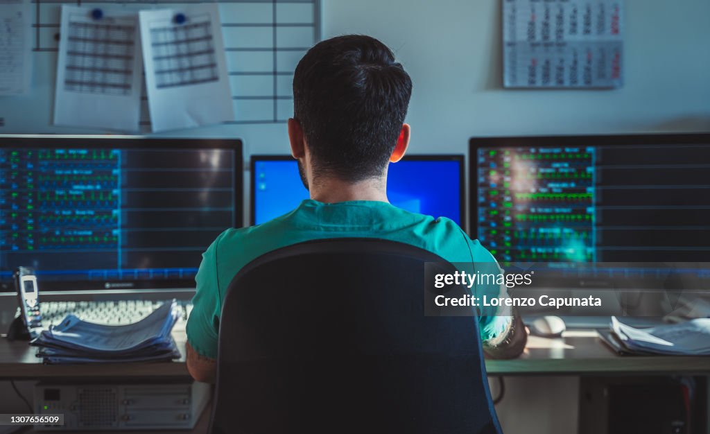
[[[552,144],[551,142],[554,142]],[[469,139],[469,237],[478,238],[478,151],[480,148],[534,146],[643,146],[663,144],[709,144],[710,134],[600,134],[587,136],[504,136]]]

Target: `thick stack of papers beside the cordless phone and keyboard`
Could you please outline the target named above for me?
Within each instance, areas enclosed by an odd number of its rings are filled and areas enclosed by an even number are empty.
[[[48,364],[163,362],[180,358],[170,332],[180,318],[177,303],[165,303],[129,325],[102,325],[67,315],[31,342]]]

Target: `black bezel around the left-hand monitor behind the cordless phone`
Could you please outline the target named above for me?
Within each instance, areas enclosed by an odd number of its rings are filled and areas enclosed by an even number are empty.
[[[244,226],[244,153],[241,139],[204,138],[153,138],[146,136],[52,136],[52,135],[2,135],[0,148],[214,148],[229,149],[234,152],[234,227]],[[226,228],[225,228],[226,229]],[[204,246],[207,249],[207,246]],[[10,270],[11,271],[11,270]],[[111,286],[120,283],[119,286]],[[120,281],[40,281],[41,292],[58,291],[106,291],[107,288],[121,288],[126,291],[194,289],[194,278],[161,280],[120,280]],[[12,281],[0,281],[0,293],[15,291]]]

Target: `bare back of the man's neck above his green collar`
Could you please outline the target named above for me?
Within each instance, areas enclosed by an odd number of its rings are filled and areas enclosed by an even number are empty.
[[[337,178],[318,179],[309,187],[311,199],[318,202],[336,203],[350,200],[389,202],[384,178],[371,178],[359,183],[349,183]]]

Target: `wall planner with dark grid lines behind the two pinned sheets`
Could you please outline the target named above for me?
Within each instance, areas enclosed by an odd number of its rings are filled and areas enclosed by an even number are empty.
[[[126,13],[173,9],[207,1],[131,0],[93,1],[31,0],[32,50],[40,65],[53,65],[60,39],[62,5],[89,8],[119,8]],[[321,0],[220,0],[224,55],[231,99],[236,114],[227,124],[277,124],[293,116],[291,83],[298,60],[320,40]],[[194,20],[193,20],[194,21]],[[187,23],[183,27],[188,27]],[[204,30],[204,29],[203,29]],[[192,28],[193,33],[200,31]],[[177,35],[175,35],[177,36]],[[174,53],[163,58],[173,62],[178,50],[200,50],[199,44],[173,45]],[[204,44],[207,45],[207,44]],[[192,58],[192,56],[186,56]],[[207,61],[208,55],[204,56]],[[209,63],[209,62],[208,62]],[[170,70],[175,68],[170,67]],[[209,75],[207,70],[203,72]],[[43,80],[43,77],[38,78]],[[165,73],[166,83],[175,83],[175,72]],[[178,82],[182,80],[179,79]],[[151,131],[146,94],[141,97],[141,131]]]

